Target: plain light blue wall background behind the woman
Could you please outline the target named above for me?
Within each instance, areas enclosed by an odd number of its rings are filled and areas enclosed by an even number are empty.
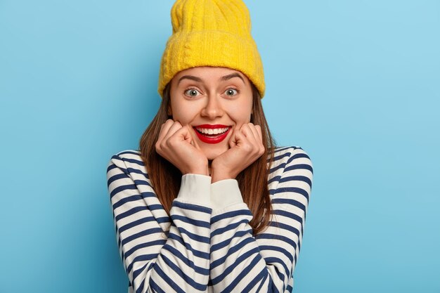
[[[246,1],[315,177],[297,293],[439,293],[440,2]],[[173,1],[0,0],[0,292],[127,292],[105,171],[160,103]]]

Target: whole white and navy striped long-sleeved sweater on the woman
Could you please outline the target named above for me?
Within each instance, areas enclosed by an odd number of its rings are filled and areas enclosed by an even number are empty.
[[[183,175],[168,216],[139,150],[113,155],[107,178],[129,293],[292,291],[313,178],[302,148],[276,149],[273,216],[257,235],[235,179]]]

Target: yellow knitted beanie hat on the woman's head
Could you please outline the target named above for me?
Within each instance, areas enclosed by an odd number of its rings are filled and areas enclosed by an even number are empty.
[[[173,34],[160,65],[160,96],[175,74],[198,66],[238,70],[264,96],[263,64],[250,32],[249,11],[241,0],[177,0],[171,20]]]

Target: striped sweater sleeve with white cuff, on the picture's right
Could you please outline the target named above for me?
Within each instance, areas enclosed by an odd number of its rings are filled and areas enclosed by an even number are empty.
[[[302,148],[293,148],[281,168],[283,171],[275,178],[278,185],[269,190],[271,221],[266,230],[255,236],[249,225],[252,214],[241,200],[236,181],[212,184],[210,276],[214,292],[292,290],[313,167]],[[227,199],[227,204],[222,198]]]

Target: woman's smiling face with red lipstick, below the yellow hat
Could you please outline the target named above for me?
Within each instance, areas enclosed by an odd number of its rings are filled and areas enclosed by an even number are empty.
[[[214,159],[228,150],[235,129],[250,122],[252,87],[237,70],[193,67],[171,81],[171,115],[190,126],[196,148]]]

